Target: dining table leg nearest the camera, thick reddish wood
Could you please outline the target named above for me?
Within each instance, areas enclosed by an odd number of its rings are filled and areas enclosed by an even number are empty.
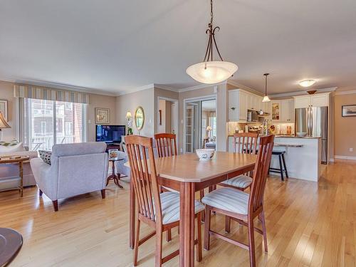
[[[194,199],[195,188],[192,182],[180,184],[179,222],[179,266],[194,266]]]

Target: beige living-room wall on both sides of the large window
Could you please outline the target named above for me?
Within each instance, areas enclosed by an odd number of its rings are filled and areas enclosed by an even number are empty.
[[[70,88],[68,88],[70,90]],[[8,100],[9,125],[11,129],[4,130],[4,140],[19,138],[17,131],[19,123],[17,122],[17,99],[14,98],[14,83],[0,81],[0,99]],[[89,94],[88,104],[88,141],[95,141],[95,108],[110,109],[110,124],[116,120],[116,97],[107,95]],[[89,123],[90,122],[90,123]]]

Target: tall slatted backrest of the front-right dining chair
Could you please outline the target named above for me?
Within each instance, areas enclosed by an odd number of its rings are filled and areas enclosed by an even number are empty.
[[[271,162],[273,141],[274,135],[260,138],[256,165],[253,170],[250,199],[248,201],[248,212],[250,214],[258,211],[263,204],[263,194],[265,192],[268,169]]]

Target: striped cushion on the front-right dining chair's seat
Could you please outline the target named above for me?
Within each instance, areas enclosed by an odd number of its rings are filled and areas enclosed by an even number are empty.
[[[246,215],[248,212],[249,197],[249,194],[239,189],[222,187],[207,194],[201,199],[201,202],[209,206],[214,206],[217,209],[224,209],[224,211]]]

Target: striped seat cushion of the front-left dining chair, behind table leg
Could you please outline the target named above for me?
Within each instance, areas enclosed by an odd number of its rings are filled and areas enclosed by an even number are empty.
[[[161,196],[162,224],[179,221],[179,194],[163,192]],[[204,205],[195,200],[195,214],[204,210]]]

